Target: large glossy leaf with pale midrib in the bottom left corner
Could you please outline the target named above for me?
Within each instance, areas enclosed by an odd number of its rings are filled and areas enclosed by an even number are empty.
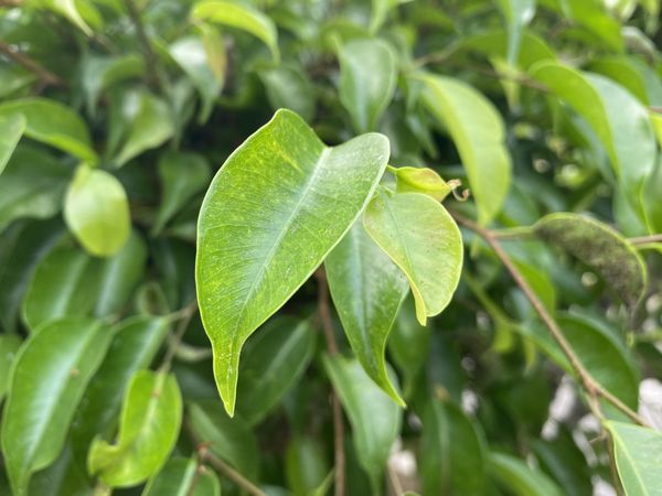
[[[2,453],[17,496],[26,494],[33,472],[57,457],[111,337],[98,322],[65,319],[45,324],[21,347],[2,419]]]

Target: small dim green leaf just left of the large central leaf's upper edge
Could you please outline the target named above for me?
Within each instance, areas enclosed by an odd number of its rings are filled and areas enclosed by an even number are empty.
[[[168,220],[209,184],[210,166],[196,153],[167,152],[159,160],[159,179],[162,193],[153,235],[158,235]]]

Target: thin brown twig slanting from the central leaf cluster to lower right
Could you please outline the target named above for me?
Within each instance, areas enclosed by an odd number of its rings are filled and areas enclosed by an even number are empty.
[[[531,285],[528,285],[528,282],[526,282],[520,270],[512,262],[512,260],[504,251],[493,233],[490,229],[479,226],[473,220],[470,220],[457,213],[453,213],[453,217],[458,223],[468,227],[469,229],[478,234],[480,237],[482,237],[487,241],[487,244],[494,250],[494,254],[496,255],[499,260],[501,260],[503,266],[508,269],[511,277],[520,287],[526,299],[531,302],[533,309],[538,314],[547,330],[549,330],[549,333],[552,334],[554,341],[558,344],[564,355],[567,357],[573,370],[579,378],[584,389],[589,396],[588,405],[596,414],[596,417],[598,417],[600,420],[605,419],[605,416],[601,413],[599,409],[599,403],[597,401],[599,398],[604,398],[617,409],[622,411],[626,416],[628,416],[633,422],[640,425],[648,425],[647,422],[637,412],[632,411],[632,409],[624,405],[619,398],[606,390],[584,367],[584,364],[581,364],[581,360],[575,354],[575,351],[564,336],[563,331],[560,330],[554,317],[547,312],[545,305],[541,302],[541,300],[537,298]]]

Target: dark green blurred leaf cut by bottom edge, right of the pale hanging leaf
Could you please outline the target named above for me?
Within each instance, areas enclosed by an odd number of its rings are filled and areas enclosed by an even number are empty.
[[[421,439],[424,494],[485,493],[484,440],[461,408],[431,398],[423,417]]]

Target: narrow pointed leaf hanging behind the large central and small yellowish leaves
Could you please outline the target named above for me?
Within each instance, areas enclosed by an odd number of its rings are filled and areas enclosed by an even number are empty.
[[[324,262],[333,304],[350,345],[367,375],[405,406],[386,370],[386,341],[407,295],[403,271],[370,238],[361,222],[345,234]]]

